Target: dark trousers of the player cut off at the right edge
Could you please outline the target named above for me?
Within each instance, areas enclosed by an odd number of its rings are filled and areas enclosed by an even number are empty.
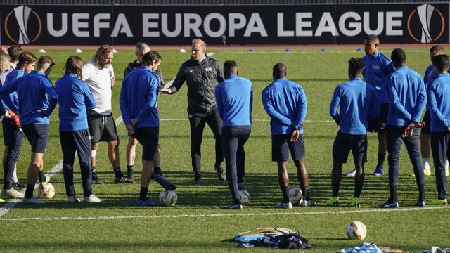
[[[436,170],[437,198],[446,198],[445,160],[450,160],[450,133],[431,133],[431,152]]]

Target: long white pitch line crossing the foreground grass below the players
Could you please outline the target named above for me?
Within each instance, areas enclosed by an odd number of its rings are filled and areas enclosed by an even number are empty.
[[[349,211],[321,211],[321,212],[267,212],[257,214],[180,214],[180,215],[126,215],[126,216],[91,216],[91,217],[30,217],[30,218],[5,218],[4,221],[65,221],[65,220],[109,220],[109,219],[177,219],[177,218],[215,218],[215,217],[239,217],[239,216],[275,216],[275,215],[309,215],[309,214],[354,214],[366,212],[408,212],[408,211],[429,211],[433,209],[448,209],[443,207],[411,207],[399,209],[366,209]]]

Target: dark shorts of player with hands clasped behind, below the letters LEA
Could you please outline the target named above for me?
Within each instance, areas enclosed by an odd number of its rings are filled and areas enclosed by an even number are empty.
[[[303,134],[300,134],[295,142],[290,141],[290,134],[272,135],[272,161],[287,161],[289,159],[289,151],[293,160],[299,160],[304,157]]]

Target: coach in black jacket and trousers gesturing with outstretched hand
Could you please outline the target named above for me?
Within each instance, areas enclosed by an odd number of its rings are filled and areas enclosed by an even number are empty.
[[[221,168],[221,162],[224,160],[220,142],[222,122],[217,112],[214,96],[215,87],[224,81],[224,71],[218,60],[205,55],[205,41],[193,39],[191,49],[191,59],[181,65],[172,86],[169,89],[161,89],[160,93],[176,93],[186,81],[188,85],[188,117],[191,125],[191,158],[194,183],[201,183],[200,150],[205,123],[210,126],[216,140],[214,169],[217,171],[219,179],[226,181],[226,176]]]

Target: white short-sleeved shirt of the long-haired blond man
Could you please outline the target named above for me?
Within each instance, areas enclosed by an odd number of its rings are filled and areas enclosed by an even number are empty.
[[[99,67],[94,65],[94,61],[83,65],[83,79],[89,86],[94,100],[96,100],[96,108],[94,111],[101,115],[110,115],[111,99],[113,92],[111,91],[111,79],[114,78],[113,65],[109,67]]]

